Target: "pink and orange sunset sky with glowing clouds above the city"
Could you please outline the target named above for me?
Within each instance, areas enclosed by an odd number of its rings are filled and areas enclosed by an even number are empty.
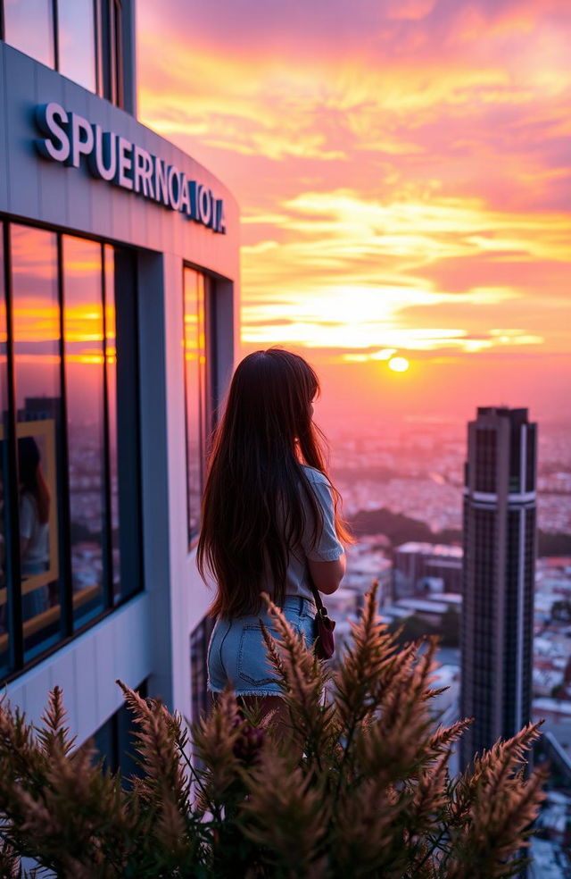
[[[308,356],[326,427],[568,416],[567,0],[139,0],[137,19],[141,120],[241,205],[244,351]]]

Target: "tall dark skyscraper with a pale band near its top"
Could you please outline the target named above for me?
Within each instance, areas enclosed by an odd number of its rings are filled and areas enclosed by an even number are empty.
[[[475,721],[463,765],[531,715],[536,449],[526,409],[480,406],[468,423],[461,716]]]

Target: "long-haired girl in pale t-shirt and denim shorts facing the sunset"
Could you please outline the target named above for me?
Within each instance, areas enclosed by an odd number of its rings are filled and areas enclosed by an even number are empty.
[[[316,373],[298,355],[270,348],[245,357],[214,437],[204,491],[197,561],[217,587],[209,689],[229,684],[237,696],[261,699],[263,714],[280,704],[281,691],[261,634],[260,618],[271,626],[260,593],[269,592],[311,643],[310,582],[330,595],[345,571],[349,537],[327,479],[323,435],[312,422],[318,392]]]

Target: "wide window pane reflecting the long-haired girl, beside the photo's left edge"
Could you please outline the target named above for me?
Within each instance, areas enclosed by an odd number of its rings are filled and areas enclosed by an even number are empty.
[[[10,227],[24,658],[60,637],[60,307],[53,232]]]

